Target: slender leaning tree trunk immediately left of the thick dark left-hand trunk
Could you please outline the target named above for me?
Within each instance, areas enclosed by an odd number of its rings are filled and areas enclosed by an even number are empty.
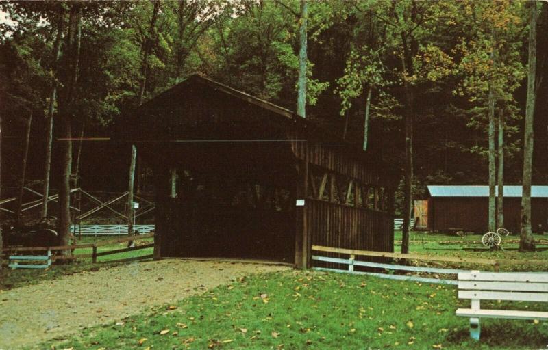
[[[53,79],[53,85],[51,86],[51,93],[49,94],[49,105],[47,109],[47,119],[46,119],[46,154],[44,159],[44,188],[42,196],[42,211],[40,212],[41,217],[47,217],[47,206],[48,206],[48,197],[49,197],[49,178],[51,173],[51,146],[53,140],[53,112],[55,111],[55,100],[57,99],[57,85],[58,85],[58,63],[59,58],[61,57],[61,43],[63,38],[63,27],[64,27],[64,13],[59,15],[57,28],[57,36],[55,37],[55,46],[53,48],[53,69],[52,75],[55,75]]]

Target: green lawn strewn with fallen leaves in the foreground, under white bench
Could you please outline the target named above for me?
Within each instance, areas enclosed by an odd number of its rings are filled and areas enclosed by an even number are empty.
[[[456,299],[453,286],[339,273],[271,273],[234,281],[151,314],[85,329],[39,348],[544,349],[547,345],[548,323],[520,320],[482,320],[482,340],[474,342],[468,319],[455,316],[459,305],[466,301]],[[547,310],[546,305],[528,306]]]

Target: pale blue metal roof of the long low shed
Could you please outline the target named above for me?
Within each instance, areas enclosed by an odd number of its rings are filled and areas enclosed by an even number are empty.
[[[428,186],[432,197],[488,197],[488,186]],[[495,188],[498,196],[499,189]],[[521,197],[521,186],[504,186],[504,197]],[[548,198],[548,186],[532,186],[531,197]]]

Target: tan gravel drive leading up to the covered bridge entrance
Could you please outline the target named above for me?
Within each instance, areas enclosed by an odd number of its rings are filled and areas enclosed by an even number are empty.
[[[242,262],[160,260],[82,271],[0,293],[0,350],[123,319],[242,275],[289,269]]]

